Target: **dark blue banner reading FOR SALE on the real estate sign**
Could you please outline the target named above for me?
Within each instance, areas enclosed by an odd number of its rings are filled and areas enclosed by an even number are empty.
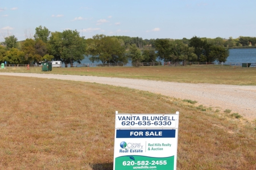
[[[176,129],[117,130],[116,138],[175,138]]]

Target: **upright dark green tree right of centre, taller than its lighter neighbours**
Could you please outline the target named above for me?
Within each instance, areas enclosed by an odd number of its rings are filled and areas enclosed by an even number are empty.
[[[155,50],[157,51],[158,57],[163,59],[164,62],[170,61],[171,55],[171,42],[167,39],[155,40]]]

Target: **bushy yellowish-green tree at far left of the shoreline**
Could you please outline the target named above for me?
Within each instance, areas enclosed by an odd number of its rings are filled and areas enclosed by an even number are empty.
[[[7,54],[3,59],[10,64],[18,65],[24,61],[24,52],[16,48],[11,48],[7,51]]]

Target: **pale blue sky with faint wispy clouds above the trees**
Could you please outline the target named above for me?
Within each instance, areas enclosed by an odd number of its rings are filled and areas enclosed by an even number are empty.
[[[77,30],[142,39],[255,37],[255,0],[0,0],[0,41],[32,38],[42,25],[51,32]]]

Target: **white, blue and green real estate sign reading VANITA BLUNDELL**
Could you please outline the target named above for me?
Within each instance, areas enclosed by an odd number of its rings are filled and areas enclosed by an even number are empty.
[[[115,112],[114,170],[176,170],[179,112]]]

